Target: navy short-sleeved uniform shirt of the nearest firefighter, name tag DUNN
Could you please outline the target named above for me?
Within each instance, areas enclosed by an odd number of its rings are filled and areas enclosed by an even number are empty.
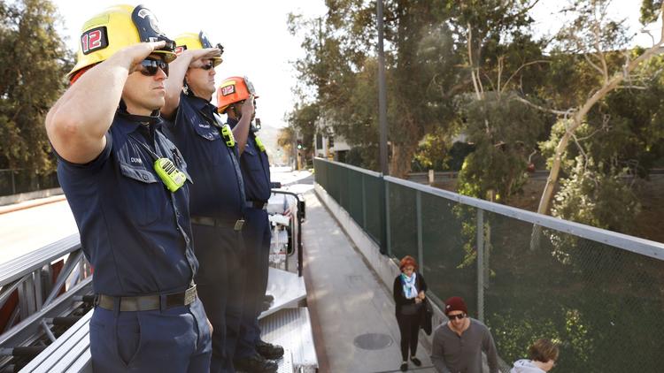
[[[181,292],[198,268],[190,240],[191,181],[170,193],[145,148],[187,172],[178,149],[159,126],[158,117],[118,110],[97,159],[72,164],[58,157],[58,180],[81,232],[83,252],[95,270],[95,293]]]

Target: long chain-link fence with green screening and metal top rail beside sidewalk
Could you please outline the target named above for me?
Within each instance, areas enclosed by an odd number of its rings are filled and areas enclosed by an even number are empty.
[[[337,202],[331,190],[360,180],[360,195],[388,197],[374,221],[388,227],[389,254],[416,257],[434,299],[464,297],[504,361],[549,338],[560,342],[556,371],[662,371],[663,244],[316,162],[316,182]]]

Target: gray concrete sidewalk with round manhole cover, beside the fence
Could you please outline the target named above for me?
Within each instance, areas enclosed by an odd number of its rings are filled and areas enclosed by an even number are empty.
[[[305,283],[320,370],[399,371],[400,337],[391,289],[367,267],[316,195],[308,192],[305,197]],[[410,363],[409,371],[435,372],[422,346],[417,357],[422,367]]]

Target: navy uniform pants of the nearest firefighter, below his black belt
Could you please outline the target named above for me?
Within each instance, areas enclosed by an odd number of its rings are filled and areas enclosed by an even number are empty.
[[[95,373],[189,372],[210,368],[210,327],[201,301],[165,310],[95,308],[90,353]]]

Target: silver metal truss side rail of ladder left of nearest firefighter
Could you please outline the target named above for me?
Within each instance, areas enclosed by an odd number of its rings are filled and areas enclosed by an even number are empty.
[[[91,281],[78,234],[0,264],[0,367],[20,368],[73,324]]]

